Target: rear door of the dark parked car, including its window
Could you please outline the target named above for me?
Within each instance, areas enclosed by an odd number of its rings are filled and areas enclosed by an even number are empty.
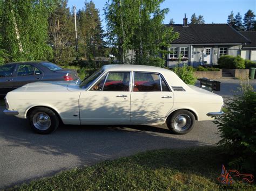
[[[16,76],[12,81],[14,88],[21,87],[27,83],[41,81],[43,78],[42,70],[38,69],[32,64],[21,64],[18,66]]]

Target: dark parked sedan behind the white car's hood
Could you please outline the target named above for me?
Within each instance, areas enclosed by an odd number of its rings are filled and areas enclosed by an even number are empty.
[[[48,61],[12,62],[0,66],[0,96],[36,81],[78,80],[75,69],[63,69]]]

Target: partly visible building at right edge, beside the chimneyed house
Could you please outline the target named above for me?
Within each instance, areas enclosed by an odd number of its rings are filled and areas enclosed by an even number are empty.
[[[240,33],[251,41],[251,44],[242,47],[241,57],[256,61],[256,31],[241,31]]]

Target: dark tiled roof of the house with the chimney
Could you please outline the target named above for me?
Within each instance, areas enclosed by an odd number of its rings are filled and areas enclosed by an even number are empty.
[[[171,44],[242,44],[250,43],[248,39],[228,24],[168,24],[179,33],[179,38]]]

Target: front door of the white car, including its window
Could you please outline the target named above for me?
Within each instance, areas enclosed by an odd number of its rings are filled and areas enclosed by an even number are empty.
[[[109,72],[79,98],[81,124],[130,122],[131,72]]]

